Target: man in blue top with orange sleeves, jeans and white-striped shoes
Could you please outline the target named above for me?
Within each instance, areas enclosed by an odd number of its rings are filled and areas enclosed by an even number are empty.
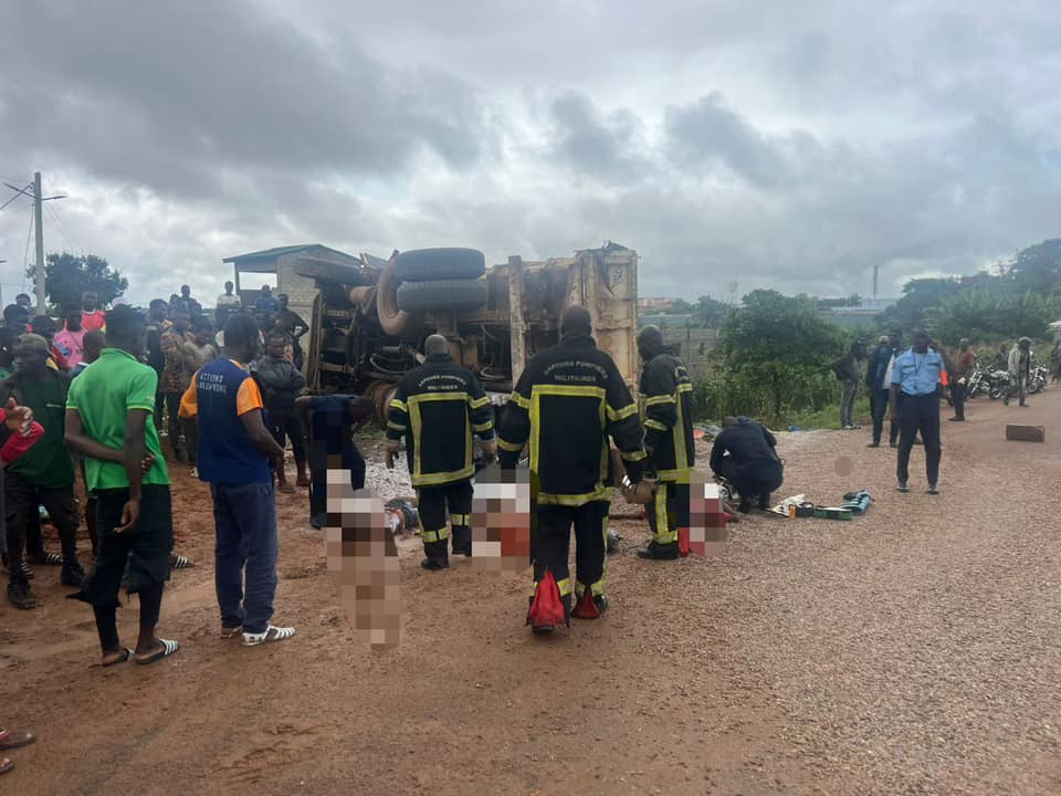
[[[213,496],[221,636],[242,633],[248,647],[295,635],[270,624],[277,547],[273,472],[283,467],[284,450],[265,428],[262,394],[246,369],[258,346],[254,318],[231,316],[222,356],[196,371],[180,401],[181,417],[198,418],[199,478]]]

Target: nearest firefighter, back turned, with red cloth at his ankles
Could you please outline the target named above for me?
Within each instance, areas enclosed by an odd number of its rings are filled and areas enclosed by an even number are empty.
[[[609,446],[614,440],[632,482],[641,482],[645,458],[637,405],[612,358],[597,348],[589,313],[572,306],[560,321],[558,345],[535,355],[516,383],[498,431],[501,467],[514,469],[524,446],[530,455],[536,517],[530,557],[534,590],[527,622],[535,632],[551,632],[574,616],[596,618],[605,597],[605,547],[608,532]],[[575,595],[568,551],[575,525]],[[551,583],[555,580],[556,588]],[[556,599],[543,582],[550,584]],[[542,595],[538,595],[538,591]],[[543,620],[535,611],[542,597],[557,610]]]

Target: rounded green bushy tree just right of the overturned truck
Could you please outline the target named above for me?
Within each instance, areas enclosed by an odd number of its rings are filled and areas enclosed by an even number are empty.
[[[786,404],[815,406],[823,391],[836,390],[829,365],[843,352],[845,337],[813,298],[753,291],[726,316],[721,337],[727,391],[739,396],[734,402],[746,412],[765,397],[763,408],[778,418]]]

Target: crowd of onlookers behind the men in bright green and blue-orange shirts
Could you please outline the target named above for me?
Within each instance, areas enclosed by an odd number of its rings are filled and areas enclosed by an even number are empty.
[[[70,386],[99,358],[106,321],[95,293],[85,293],[80,305],[61,307],[54,314],[61,317],[56,321],[51,315],[34,314],[31,297],[20,294],[4,307],[0,326],[0,406],[13,399],[18,406],[29,407],[45,429],[30,451],[3,468],[0,490],[0,513],[6,520],[0,552],[9,575],[8,597],[19,608],[36,606],[30,586],[34,567],[60,567],[61,583],[72,588],[81,587],[85,577],[76,548],[82,511],[74,490],[75,475],[80,472],[84,480],[85,467],[83,460],[71,457],[63,428]],[[305,387],[301,339],[309,326],[291,310],[286,295],[274,295],[269,286],[262,286],[253,301],[244,301],[233,283],[227,282],[211,311],[203,308],[188,285],[168,301],[149,303],[144,359],[158,375],[154,425],[159,437],[168,440],[174,459],[187,463],[191,474],[198,475],[197,422],[180,417],[180,400],[196,371],[220,357],[222,329],[233,314],[245,314],[258,325],[264,353],[251,369],[262,389],[265,422],[282,447],[291,439],[296,483],[308,486],[295,399]],[[288,492],[295,489],[282,469],[277,488]],[[83,516],[95,554],[93,503],[86,490]],[[45,549],[42,523],[54,526],[61,554]],[[190,562],[174,555],[172,564],[180,568]]]

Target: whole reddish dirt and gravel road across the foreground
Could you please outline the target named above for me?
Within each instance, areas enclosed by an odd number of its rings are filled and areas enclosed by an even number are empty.
[[[863,432],[782,434],[784,493],[869,488],[850,523],[754,516],[715,559],[610,558],[612,610],[530,636],[526,578],[402,561],[405,638],[355,643],[305,500],[282,498],[277,616],[218,637],[206,488],[175,486],[160,631],[181,651],[101,669],[88,608],[38,568],[0,607],[0,726],[24,794],[1046,794],[1061,792],[1061,390],[944,422],[941,496],[894,491]],[[946,412],[946,408],[944,408]],[[946,415],[945,415],[946,416]],[[1004,441],[1004,423],[1048,443]],[[136,611],[124,610],[134,638]]]

